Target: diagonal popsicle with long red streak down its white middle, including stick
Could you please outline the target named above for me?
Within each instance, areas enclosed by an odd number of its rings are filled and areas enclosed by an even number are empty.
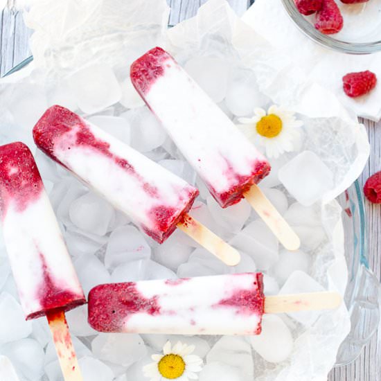
[[[180,227],[229,265],[236,249],[188,216],[198,190],[143,154],[60,106],[33,129],[37,147],[71,170],[161,243]]]

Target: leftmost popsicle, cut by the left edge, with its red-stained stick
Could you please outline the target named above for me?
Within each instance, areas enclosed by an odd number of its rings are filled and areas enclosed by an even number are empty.
[[[0,146],[0,214],[26,319],[46,316],[65,380],[82,380],[64,312],[86,303],[33,155]]]

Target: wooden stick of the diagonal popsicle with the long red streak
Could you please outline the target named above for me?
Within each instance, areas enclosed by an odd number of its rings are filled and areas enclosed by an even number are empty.
[[[211,254],[222,260],[226,265],[236,266],[240,263],[240,253],[234,247],[231,247],[207,227],[204,227],[203,224],[190,217],[190,215],[186,214],[184,221],[177,224],[177,227],[197,243],[200,243]]]

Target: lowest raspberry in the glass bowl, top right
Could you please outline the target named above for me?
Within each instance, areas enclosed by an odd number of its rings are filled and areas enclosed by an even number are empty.
[[[335,0],[323,0],[323,6],[316,14],[315,28],[324,35],[333,35],[343,28],[343,17]]]

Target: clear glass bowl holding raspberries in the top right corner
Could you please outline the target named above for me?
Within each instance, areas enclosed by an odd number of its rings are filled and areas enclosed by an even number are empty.
[[[315,29],[314,15],[301,15],[294,0],[282,0],[282,3],[301,32],[322,46],[351,54],[381,51],[380,0],[358,4],[344,4],[337,0],[344,18],[344,28],[334,35],[324,35]]]

